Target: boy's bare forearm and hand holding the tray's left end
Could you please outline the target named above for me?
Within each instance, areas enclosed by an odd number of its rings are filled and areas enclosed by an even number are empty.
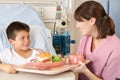
[[[7,73],[16,73],[17,71],[14,69],[13,65],[11,64],[2,64],[0,60],[0,70],[5,71]]]

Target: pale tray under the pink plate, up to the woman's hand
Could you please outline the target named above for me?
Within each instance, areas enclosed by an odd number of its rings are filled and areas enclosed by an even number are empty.
[[[29,72],[29,73],[38,73],[38,74],[45,74],[45,75],[54,75],[54,74],[59,74],[68,70],[71,70],[72,68],[77,67],[78,65],[70,65],[70,64],[65,64],[60,67],[55,67],[47,70],[37,70],[37,69],[25,69],[25,68],[15,68],[18,71],[21,72]]]

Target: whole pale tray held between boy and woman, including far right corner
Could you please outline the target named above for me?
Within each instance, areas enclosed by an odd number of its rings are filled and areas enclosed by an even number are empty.
[[[87,64],[89,63],[90,61],[89,60],[86,60],[84,63]],[[62,62],[64,63],[64,61]],[[30,66],[30,65],[28,65]],[[27,67],[28,67],[27,66]],[[21,72],[29,72],[29,73],[38,73],[38,74],[46,74],[46,75],[54,75],[54,74],[59,74],[59,73],[62,73],[62,72],[65,72],[65,71],[68,71],[68,70],[71,70],[77,66],[80,66],[79,64],[78,65],[71,65],[71,64],[61,64],[60,66],[57,66],[57,67],[54,67],[53,68],[47,68],[47,69],[36,69],[36,68],[24,68],[26,66],[22,67],[19,66],[19,67],[15,67],[16,70],[18,71],[21,71]]]

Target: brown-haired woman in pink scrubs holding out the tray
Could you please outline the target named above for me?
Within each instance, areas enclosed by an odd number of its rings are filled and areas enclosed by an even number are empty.
[[[120,40],[115,35],[114,22],[103,6],[86,1],[75,11],[77,27],[82,32],[77,53],[90,60],[73,71],[79,80],[115,80],[120,77]]]

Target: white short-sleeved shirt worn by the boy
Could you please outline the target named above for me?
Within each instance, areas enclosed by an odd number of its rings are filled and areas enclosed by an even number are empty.
[[[32,55],[25,59],[16,53],[14,49],[6,48],[2,53],[0,53],[0,60],[3,64],[21,65],[29,63],[36,57],[36,54],[39,54],[39,52],[32,49]]]

